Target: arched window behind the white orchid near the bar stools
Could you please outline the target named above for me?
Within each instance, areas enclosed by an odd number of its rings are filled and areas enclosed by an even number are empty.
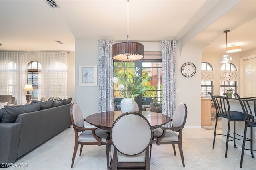
[[[220,68],[222,71],[237,71],[237,68],[234,64],[229,63],[229,64],[223,64]],[[230,81],[230,88],[235,89],[234,93],[237,92],[237,81]],[[222,80],[220,81],[220,95],[223,95],[225,93],[226,89],[229,89],[229,84],[228,82]]]

